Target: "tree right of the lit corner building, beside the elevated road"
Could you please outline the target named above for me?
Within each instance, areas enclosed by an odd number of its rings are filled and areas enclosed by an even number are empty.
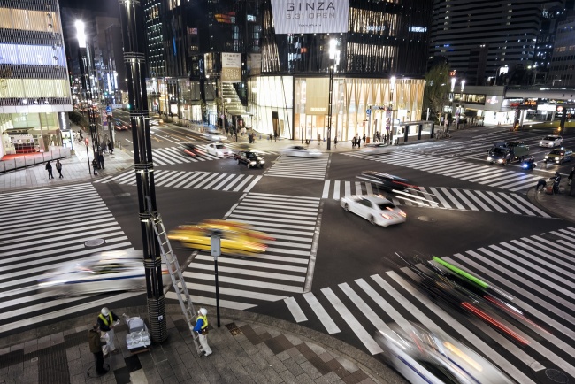
[[[449,78],[449,64],[441,63],[433,65],[426,73],[426,90],[424,92],[424,111],[429,108],[433,119],[439,122],[443,113],[443,105],[448,99],[451,83]]]

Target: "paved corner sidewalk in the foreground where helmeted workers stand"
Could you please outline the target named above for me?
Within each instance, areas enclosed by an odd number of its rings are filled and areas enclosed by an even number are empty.
[[[197,308],[196,308],[197,309]],[[140,315],[145,307],[111,308],[119,316]],[[168,339],[132,355],[126,349],[127,326],[115,328],[120,353],[107,357],[110,371],[92,378],[94,356],[88,327],[97,312],[63,320],[0,341],[1,383],[402,383],[378,357],[332,336],[248,311],[208,307],[208,341],[213,353],[198,357],[179,305],[167,305]],[[149,322],[146,319],[146,322]]]

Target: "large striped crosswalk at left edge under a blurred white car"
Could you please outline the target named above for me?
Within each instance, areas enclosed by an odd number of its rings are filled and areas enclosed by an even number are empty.
[[[62,205],[70,201],[73,204]],[[129,250],[132,244],[91,184],[3,193],[0,195],[0,335],[26,326],[110,305],[142,295],[77,296],[53,299],[37,292],[42,274],[101,250]],[[87,219],[87,215],[89,219]],[[103,239],[97,249],[84,243]]]

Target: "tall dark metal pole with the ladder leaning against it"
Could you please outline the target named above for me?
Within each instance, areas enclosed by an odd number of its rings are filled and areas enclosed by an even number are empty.
[[[162,284],[162,254],[155,228],[156,210],[154,165],[149,134],[148,97],[146,96],[146,55],[144,15],[140,1],[119,0],[124,40],[130,122],[134,141],[134,170],[138,188],[139,221],[142,229],[143,264],[146,271],[148,319],[152,342],[167,339],[165,297]]]

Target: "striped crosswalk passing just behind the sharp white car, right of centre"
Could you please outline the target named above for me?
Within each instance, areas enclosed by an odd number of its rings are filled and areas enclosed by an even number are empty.
[[[389,197],[395,205],[442,208],[459,211],[486,211],[550,218],[525,196],[510,192],[471,189],[418,187],[410,193]],[[339,200],[342,196],[379,193],[375,184],[364,181],[325,180],[322,198]]]

